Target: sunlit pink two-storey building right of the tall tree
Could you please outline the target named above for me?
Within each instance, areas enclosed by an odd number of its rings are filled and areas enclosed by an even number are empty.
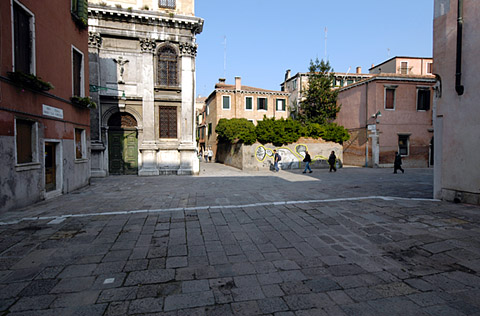
[[[433,164],[434,76],[377,74],[341,88],[336,123],[351,134],[344,164],[392,167],[395,152],[406,168]]]

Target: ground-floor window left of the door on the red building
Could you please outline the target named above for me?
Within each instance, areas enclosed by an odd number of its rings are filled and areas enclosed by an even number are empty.
[[[37,162],[37,123],[29,120],[15,120],[15,141],[17,164]]]

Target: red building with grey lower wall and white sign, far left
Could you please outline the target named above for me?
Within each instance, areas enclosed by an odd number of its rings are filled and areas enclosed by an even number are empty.
[[[0,20],[0,210],[7,211],[89,183],[90,109],[80,99],[88,96],[87,3],[2,0]]]

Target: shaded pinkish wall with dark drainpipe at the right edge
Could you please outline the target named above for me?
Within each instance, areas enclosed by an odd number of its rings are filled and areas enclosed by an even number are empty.
[[[434,196],[480,204],[480,2],[435,0]]]

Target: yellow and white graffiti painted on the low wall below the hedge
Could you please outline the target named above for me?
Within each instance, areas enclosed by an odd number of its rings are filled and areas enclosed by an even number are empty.
[[[305,153],[308,151],[308,147],[305,144],[298,144],[295,146],[295,149],[290,149],[288,147],[277,147],[277,148],[268,148],[264,145],[259,145],[255,149],[255,158],[258,162],[269,161],[273,164],[273,149],[276,149],[277,152],[282,157],[280,166],[282,169],[297,169],[301,168],[301,163],[303,158],[305,158]],[[319,162],[320,164],[327,164],[328,157],[323,155],[315,155],[310,153],[312,157],[312,164]]]

